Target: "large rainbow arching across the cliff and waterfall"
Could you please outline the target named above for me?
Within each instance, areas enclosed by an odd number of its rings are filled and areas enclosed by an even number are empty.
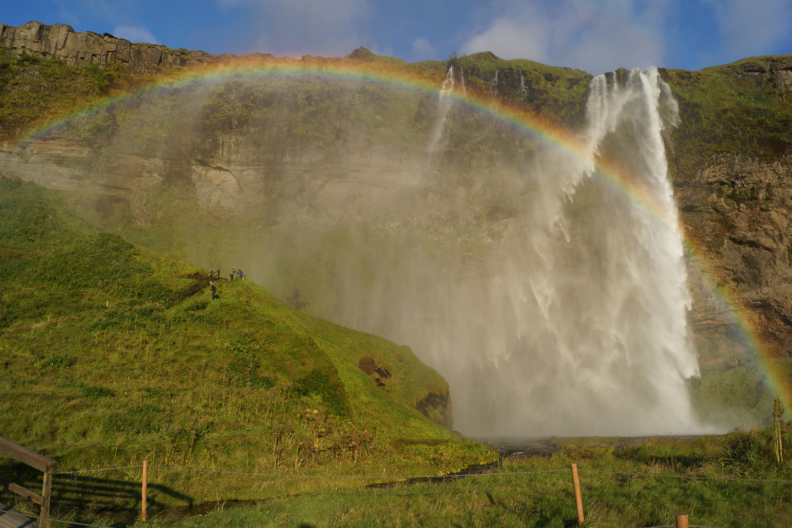
[[[377,69],[379,67],[379,69]],[[443,74],[444,75],[444,72]],[[95,112],[100,112],[112,105],[122,101],[128,101],[135,97],[147,97],[158,93],[166,93],[170,90],[181,89],[196,84],[222,83],[229,79],[236,78],[323,78],[339,82],[370,82],[383,85],[392,89],[399,89],[411,93],[426,93],[437,95],[440,83],[444,77],[439,72],[434,74],[406,74],[405,70],[396,68],[387,69],[382,66],[367,66],[367,63],[352,63],[344,59],[321,60],[308,59],[297,61],[295,59],[284,59],[282,63],[257,63],[254,66],[244,65],[221,65],[208,67],[195,67],[181,70],[175,74],[163,75],[156,82],[146,85],[143,88],[135,89],[131,92],[119,93],[112,97],[105,97],[94,104],[86,104],[77,112],[51,120],[43,126],[31,131],[26,137],[30,139],[40,139],[68,123],[90,116]],[[459,91],[449,91],[446,97],[450,97],[455,104],[470,108],[476,112],[481,112],[493,120],[502,123],[520,134],[539,140],[547,146],[567,154],[573,158],[580,159],[588,163],[590,153],[586,149],[584,142],[577,135],[570,133],[562,127],[545,120],[538,116],[531,115],[520,108],[514,108],[508,104],[493,100],[489,97],[477,97],[474,93],[463,95]],[[669,224],[668,215],[663,211],[660,203],[649,194],[644,188],[639,186],[620,171],[617,165],[603,159],[596,159],[594,165],[595,173],[603,180],[607,181],[614,188],[626,195],[634,203],[649,211],[651,217],[668,229],[679,230],[683,234],[683,244],[687,252],[698,256],[701,262],[706,262],[706,250],[703,245],[691,236],[681,224],[674,226]],[[708,275],[714,273],[707,270]],[[737,296],[733,292],[725,291],[715,287],[710,280],[712,291],[718,297],[718,301],[729,314],[739,332],[741,338],[748,347],[756,353],[762,362],[763,370],[774,385],[776,392],[781,393],[788,405],[792,405],[792,384],[789,380],[782,378],[782,374],[771,368],[771,359],[774,354],[763,344],[760,336],[752,324],[752,314],[745,310]]]

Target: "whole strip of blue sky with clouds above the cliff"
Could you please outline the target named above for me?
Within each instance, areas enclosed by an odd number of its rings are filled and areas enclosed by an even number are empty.
[[[414,62],[493,51],[592,74],[792,54],[792,0],[0,1],[6,25],[69,24],[215,54],[338,56],[365,46]]]

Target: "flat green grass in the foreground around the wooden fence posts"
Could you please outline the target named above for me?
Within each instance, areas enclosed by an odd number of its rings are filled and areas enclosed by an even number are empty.
[[[245,477],[240,486],[275,492],[233,507],[205,504],[162,511],[147,523],[113,521],[101,512],[70,519],[112,526],[229,528],[293,526],[577,526],[569,464],[577,463],[584,526],[638,528],[673,524],[714,528],[792,526],[792,463],[775,463],[771,430],[737,430],[695,440],[650,439],[626,448],[619,439],[559,439],[552,455],[517,455],[478,476],[443,481],[307,480]],[[494,473],[547,472],[497,475]],[[596,473],[623,472],[619,473]],[[636,473],[640,473],[637,475]],[[660,477],[676,475],[695,478]],[[212,477],[204,475],[204,479]],[[64,512],[65,513],[65,512]],[[117,519],[117,517],[116,517]],[[68,519],[67,519],[68,520]],[[66,525],[56,524],[56,528]]]

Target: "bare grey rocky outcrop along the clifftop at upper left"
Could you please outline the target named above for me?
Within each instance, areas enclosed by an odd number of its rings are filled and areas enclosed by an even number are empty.
[[[0,47],[6,54],[41,59],[60,59],[68,66],[123,66],[128,73],[145,74],[173,66],[199,66],[232,61],[262,63],[275,59],[268,53],[211,55],[204,51],[173,50],[161,44],[138,44],[116,39],[110,33],[75,32],[70,25],[44,25],[32,21],[25,25],[0,24]]]

